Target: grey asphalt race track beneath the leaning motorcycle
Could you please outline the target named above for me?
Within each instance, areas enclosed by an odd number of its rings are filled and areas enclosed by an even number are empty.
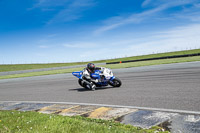
[[[0,101],[76,102],[200,111],[200,62],[113,70],[120,88],[81,88],[71,74],[0,80]]]

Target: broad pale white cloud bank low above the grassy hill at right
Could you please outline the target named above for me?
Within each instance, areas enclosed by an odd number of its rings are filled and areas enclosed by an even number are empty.
[[[149,35],[138,37],[120,38],[116,41],[107,40],[101,51],[85,51],[80,56],[84,60],[109,59],[125,56],[147,55],[200,48],[200,24],[192,24],[172,28],[166,31],[152,32]],[[128,39],[129,38],[129,39]]]

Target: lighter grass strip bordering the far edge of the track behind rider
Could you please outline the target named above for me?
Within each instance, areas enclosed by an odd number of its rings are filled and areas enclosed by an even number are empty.
[[[121,64],[110,64],[110,65],[104,65],[102,67],[107,67],[107,68],[111,68],[111,69],[118,69],[118,68],[140,67],[140,66],[171,64],[171,63],[181,63],[181,62],[193,62],[193,61],[200,61],[200,56],[184,57],[184,58],[176,58],[176,59],[140,61],[140,62],[121,63]],[[71,73],[71,72],[74,72],[74,71],[81,71],[81,70],[83,70],[83,67],[62,69],[62,70],[42,71],[42,72],[30,72],[30,73],[23,73],[23,74],[13,74],[13,75],[0,76],[0,79],[31,77],[31,76],[40,76],[40,75],[52,75],[52,74],[63,74],[63,73]]]

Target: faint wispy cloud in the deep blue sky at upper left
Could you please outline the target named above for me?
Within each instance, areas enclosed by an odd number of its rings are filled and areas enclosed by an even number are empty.
[[[38,0],[28,10],[31,11],[36,8],[44,12],[56,10],[57,13],[46,23],[49,25],[79,19],[82,16],[82,11],[94,5],[95,2],[93,0]]]

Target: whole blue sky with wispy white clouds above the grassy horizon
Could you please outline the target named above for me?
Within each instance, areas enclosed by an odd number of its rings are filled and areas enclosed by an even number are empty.
[[[0,64],[200,48],[199,0],[0,0]]]

